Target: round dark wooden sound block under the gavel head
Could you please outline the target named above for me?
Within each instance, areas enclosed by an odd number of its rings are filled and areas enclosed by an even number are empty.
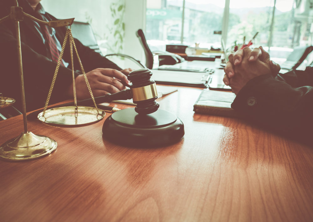
[[[184,124],[174,114],[157,110],[148,115],[134,108],[109,116],[102,127],[103,137],[124,146],[156,147],[176,143],[185,134]]]

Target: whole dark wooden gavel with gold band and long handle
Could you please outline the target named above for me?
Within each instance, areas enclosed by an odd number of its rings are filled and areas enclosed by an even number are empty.
[[[104,96],[95,97],[95,103],[111,102],[114,100],[127,100],[132,99],[136,104],[135,111],[138,114],[150,114],[159,108],[160,104],[156,101],[157,91],[156,83],[151,79],[152,72],[149,69],[138,69],[130,72],[127,76],[131,84],[128,85],[129,89],[125,89],[113,94],[106,94]],[[74,106],[74,102],[64,103],[57,106],[49,107],[49,109],[62,107],[62,106]],[[93,106],[92,99],[85,99],[77,101],[77,106]],[[28,114],[28,118],[35,119],[43,109],[34,111]]]

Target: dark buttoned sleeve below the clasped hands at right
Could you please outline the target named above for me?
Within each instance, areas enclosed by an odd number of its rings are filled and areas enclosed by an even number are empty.
[[[250,80],[232,108],[266,129],[309,142],[313,134],[312,69]]]

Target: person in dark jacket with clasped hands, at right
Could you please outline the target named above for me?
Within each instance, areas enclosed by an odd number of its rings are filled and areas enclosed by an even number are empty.
[[[237,95],[232,108],[266,129],[312,145],[313,67],[279,73],[262,47],[229,57],[224,83]]]

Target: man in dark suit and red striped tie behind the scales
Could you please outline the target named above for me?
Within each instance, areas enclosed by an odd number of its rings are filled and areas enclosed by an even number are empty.
[[[18,0],[18,5],[33,17],[44,21],[56,20],[44,11],[39,2],[40,0]],[[11,6],[14,6],[14,0],[1,0],[0,18],[10,13]],[[66,27],[51,28],[24,17],[20,22],[20,32],[26,110],[31,111],[44,106],[57,65],[55,58],[60,53]],[[74,41],[95,97],[125,89],[125,85],[129,83],[126,75],[132,71],[131,69],[122,70],[115,63],[82,45],[77,39]],[[56,48],[50,46],[51,42]],[[14,106],[21,110],[16,31],[15,24],[10,19],[0,24],[0,49],[0,92],[4,96],[16,99]],[[73,98],[69,43],[65,47],[61,63],[50,104]],[[73,63],[77,99],[90,98],[84,76],[76,71],[80,70],[80,66],[75,56]]]

